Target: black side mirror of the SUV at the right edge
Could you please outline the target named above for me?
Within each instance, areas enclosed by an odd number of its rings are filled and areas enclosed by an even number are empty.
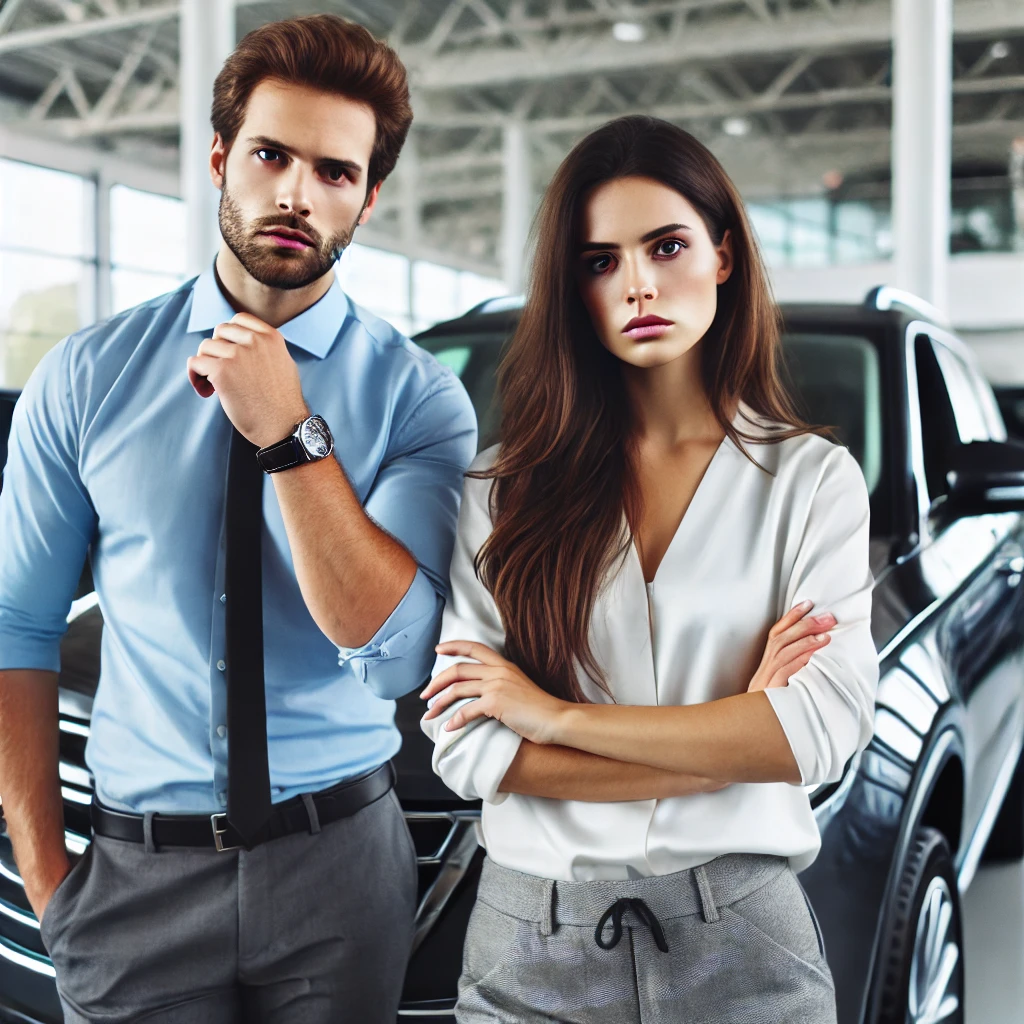
[[[1024,512],[1024,442],[962,444],[946,474],[949,490],[935,512],[945,518]]]

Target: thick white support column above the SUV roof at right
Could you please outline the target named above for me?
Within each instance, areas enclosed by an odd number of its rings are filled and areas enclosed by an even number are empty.
[[[895,284],[947,308],[952,0],[893,0]]]

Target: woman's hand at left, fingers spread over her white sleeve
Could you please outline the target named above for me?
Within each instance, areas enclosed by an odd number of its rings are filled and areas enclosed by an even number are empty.
[[[482,643],[470,640],[450,640],[438,644],[438,654],[472,657],[445,669],[431,680],[420,694],[429,700],[425,719],[436,718],[445,708],[464,697],[478,697],[460,708],[444,728],[461,729],[477,718],[495,718],[535,743],[555,741],[555,723],[568,707],[567,701],[553,697],[532,680]]]

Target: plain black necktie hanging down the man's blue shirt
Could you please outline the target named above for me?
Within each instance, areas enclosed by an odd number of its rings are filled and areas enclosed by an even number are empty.
[[[263,687],[260,537],[263,471],[257,446],[231,431],[227,467],[227,820],[251,846],[270,816]]]

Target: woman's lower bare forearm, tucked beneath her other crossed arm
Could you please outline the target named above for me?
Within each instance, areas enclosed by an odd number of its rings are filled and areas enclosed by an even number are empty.
[[[722,788],[722,783],[524,739],[498,788],[527,797],[605,803],[710,793]]]

